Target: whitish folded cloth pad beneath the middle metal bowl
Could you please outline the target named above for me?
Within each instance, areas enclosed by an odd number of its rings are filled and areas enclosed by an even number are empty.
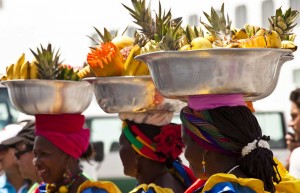
[[[125,119],[135,123],[145,123],[149,125],[164,126],[171,123],[174,112],[159,111],[159,112],[145,112],[145,113],[119,113],[119,118]]]

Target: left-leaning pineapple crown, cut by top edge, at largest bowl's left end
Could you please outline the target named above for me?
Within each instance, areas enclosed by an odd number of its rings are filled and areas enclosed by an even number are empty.
[[[146,7],[146,0],[131,0],[133,9],[122,4],[135,20],[134,23],[140,26],[138,29],[140,32],[145,34],[148,38],[152,38],[154,35],[155,22],[151,16],[150,2]]]

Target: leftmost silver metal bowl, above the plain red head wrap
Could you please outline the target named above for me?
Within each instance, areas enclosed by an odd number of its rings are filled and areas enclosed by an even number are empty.
[[[94,94],[85,81],[8,80],[2,84],[12,105],[29,115],[82,113]]]

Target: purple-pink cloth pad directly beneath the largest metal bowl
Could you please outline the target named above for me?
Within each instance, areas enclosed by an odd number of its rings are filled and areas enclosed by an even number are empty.
[[[246,103],[242,94],[207,94],[189,96],[188,106],[202,111],[223,106],[246,106]]]

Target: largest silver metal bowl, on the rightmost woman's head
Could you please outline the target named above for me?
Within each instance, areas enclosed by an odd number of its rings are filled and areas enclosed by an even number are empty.
[[[220,48],[159,51],[135,57],[148,64],[156,88],[167,98],[241,93],[247,101],[269,96],[292,51],[271,48]]]

